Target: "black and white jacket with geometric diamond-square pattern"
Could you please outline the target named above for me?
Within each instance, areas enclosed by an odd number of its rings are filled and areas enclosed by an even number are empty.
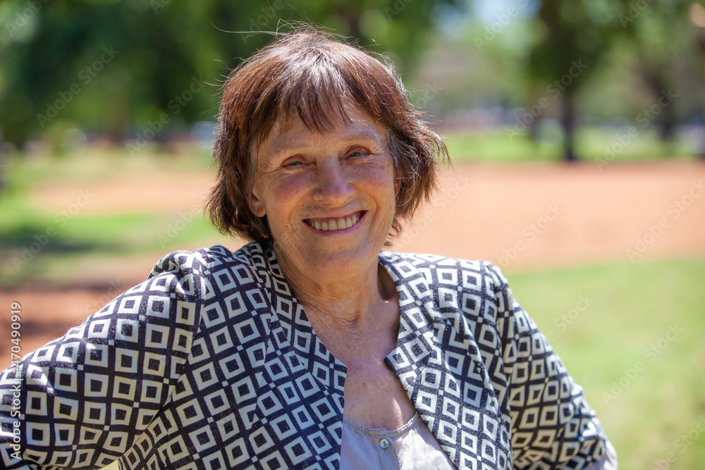
[[[386,364],[456,468],[580,469],[601,457],[601,423],[498,268],[379,259],[401,314]],[[345,371],[270,247],[175,252],[1,374],[0,461],[338,468]]]

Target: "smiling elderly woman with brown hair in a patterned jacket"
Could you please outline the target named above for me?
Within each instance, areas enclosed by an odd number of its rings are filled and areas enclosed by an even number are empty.
[[[214,154],[209,214],[252,241],[166,256],[4,371],[4,468],[615,468],[496,267],[381,251],[447,159],[389,66],[281,36]]]

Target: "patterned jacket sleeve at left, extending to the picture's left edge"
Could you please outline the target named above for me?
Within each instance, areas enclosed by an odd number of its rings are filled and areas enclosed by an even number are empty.
[[[0,373],[6,469],[99,468],[133,444],[168,400],[207,295],[197,252],[149,278]]]

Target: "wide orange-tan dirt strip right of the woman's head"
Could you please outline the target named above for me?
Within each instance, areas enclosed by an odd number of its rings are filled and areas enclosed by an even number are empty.
[[[401,249],[514,270],[705,254],[704,162],[455,170]]]

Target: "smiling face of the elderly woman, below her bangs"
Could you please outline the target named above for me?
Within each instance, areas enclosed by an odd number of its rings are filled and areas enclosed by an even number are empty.
[[[352,122],[309,130],[279,120],[257,148],[250,207],[266,214],[288,276],[326,283],[376,266],[395,210],[386,132],[357,108]],[[362,271],[361,271],[362,270]]]

